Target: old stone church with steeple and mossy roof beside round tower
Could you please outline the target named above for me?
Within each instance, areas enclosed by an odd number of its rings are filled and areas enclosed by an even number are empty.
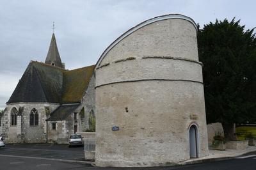
[[[95,112],[95,65],[66,70],[54,33],[45,63],[31,61],[1,118],[6,143],[67,143],[90,130]]]

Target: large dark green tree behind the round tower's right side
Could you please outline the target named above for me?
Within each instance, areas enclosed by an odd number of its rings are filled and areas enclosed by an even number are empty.
[[[198,31],[198,54],[204,64],[207,123],[221,122],[225,137],[235,140],[234,123],[256,118],[256,39],[239,20],[210,22]]]

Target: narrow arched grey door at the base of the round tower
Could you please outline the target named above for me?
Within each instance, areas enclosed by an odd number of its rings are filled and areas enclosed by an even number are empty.
[[[198,157],[197,128],[195,125],[189,128],[189,155],[190,158]]]

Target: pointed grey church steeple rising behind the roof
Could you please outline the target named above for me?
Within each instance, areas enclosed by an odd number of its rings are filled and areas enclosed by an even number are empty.
[[[45,59],[45,63],[52,66],[58,66],[63,68],[54,33],[52,33],[52,40],[48,50],[47,57]]]

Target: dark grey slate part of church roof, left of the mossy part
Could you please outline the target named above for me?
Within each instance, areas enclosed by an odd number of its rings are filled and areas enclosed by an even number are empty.
[[[31,61],[7,104],[16,102],[61,102],[65,70]]]

